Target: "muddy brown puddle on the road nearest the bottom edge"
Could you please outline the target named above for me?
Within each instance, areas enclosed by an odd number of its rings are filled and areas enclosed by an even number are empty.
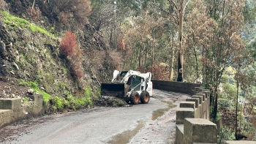
[[[127,130],[126,132],[117,134],[112,138],[112,140],[108,141],[108,144],[129,143],[129,140],[145,126],[145,123],[145,121],[138,121],[138,126],[136,126],[135,129]]]

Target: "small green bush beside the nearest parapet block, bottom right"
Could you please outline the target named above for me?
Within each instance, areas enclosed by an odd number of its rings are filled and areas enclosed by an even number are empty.
[[[221,144],[225,140],[235,140],[235,132],[233,132],[233,129],[229,129],[227,127],[222,127],[218,134],[218,144]]]

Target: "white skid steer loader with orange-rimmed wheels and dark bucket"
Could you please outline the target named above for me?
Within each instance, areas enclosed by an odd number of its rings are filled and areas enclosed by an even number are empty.
[[[111,83],[101,84],[101,94],[102,96],[116,96],[133,105],[137,105],[139,102],[146,104],[149,102],[150,96],[153,96],[151,72],[115,70]]]

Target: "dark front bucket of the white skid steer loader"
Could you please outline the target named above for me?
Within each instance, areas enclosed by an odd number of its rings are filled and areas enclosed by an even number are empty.
[[[116,96],[123,99],[125,96],[124,83],[102,83],[102,96]]]

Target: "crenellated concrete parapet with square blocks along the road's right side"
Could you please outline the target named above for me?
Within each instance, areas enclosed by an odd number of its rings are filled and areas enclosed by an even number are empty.
[[[210,91],[181,102],[176,111],[176,143],[217,143],[217,125],[209,120]]]

